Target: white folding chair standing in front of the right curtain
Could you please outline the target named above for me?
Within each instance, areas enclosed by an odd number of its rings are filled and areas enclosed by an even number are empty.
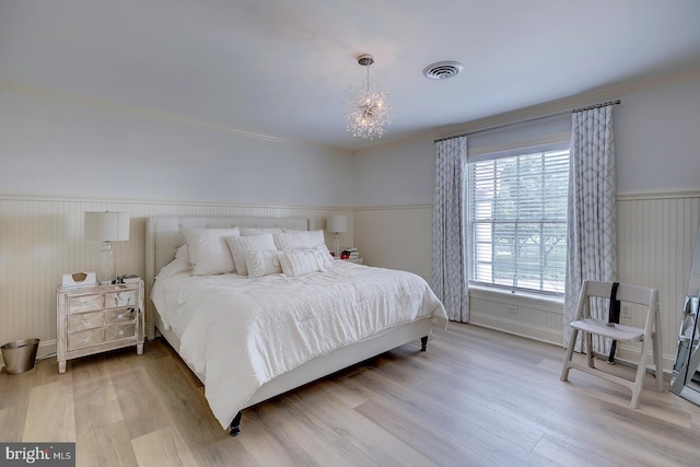
[[[576,369],[595,376],[599,376],[606,381],[620,384],[631,389],[632,400],[630,407],[635,409],[639,404],[639,395],[642,390],[644,373],[646,372],[646,357],[650,350],[654,355],[654,376],[656,377],[656,390],[663,390],[664,376],[661,353],[661,326],[658,315],[658,291],[645,287],[630,285],[620,283],[617,289],[616,299],[620,302],[634,303],[642,305],[646,317],[643,328],[635,328],[625,325],[610,325],[607,320],[591,317],[591,299],[602,297],[610,299],[612,290],[611,282],[584,281],[579,297],[579,310],[576,318],[571,323],[571,337],[569,347],[567,348],[567,357],[561,371],[561,381],[567,381],[569,370]],[[631,307],[639,312],[642,307]],[[584,351],[587,355],[587,365],[572,361],[573,349],[576,343],[579,331],[583,332],[583,341],[585,341]],[[605,336],[617,341],[637,341],[642,342],[642,350],[639,361],[637,362],[637,376],[634,381],[626,377],[617,376],[596,369],[593,358],[593,335]]]

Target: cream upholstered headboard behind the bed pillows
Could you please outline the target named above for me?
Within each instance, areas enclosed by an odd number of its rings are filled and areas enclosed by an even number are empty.
[[[241,218],[203,215],[163,215],[149,218],[145,230],[145,336],[155,337],[154,313],[151,303],[151,288],[158,272],[175,259],[177,247],[185,244],[183,229],[230,229],[230,227],[282,227],[299,231],[308,230],[308,219],[304,218]]]

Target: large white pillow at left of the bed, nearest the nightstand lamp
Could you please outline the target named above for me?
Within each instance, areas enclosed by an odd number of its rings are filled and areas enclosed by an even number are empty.
[[[235,272],[233,257],[224,237],[238,235],[238,227],[185,229],[180,232],[187,242],[192,276]]]

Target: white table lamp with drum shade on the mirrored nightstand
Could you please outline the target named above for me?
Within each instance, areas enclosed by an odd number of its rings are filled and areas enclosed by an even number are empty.
[[[129,213],[85,211],[85,240],[102,242],[97,272],[100,284],[115,283],[117,266],[113,242],[129,240]]]

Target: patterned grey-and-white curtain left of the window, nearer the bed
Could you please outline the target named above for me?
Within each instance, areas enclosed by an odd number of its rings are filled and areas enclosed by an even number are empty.
[[[467,138],[438,141],[436,151],[433,290],[450,319],[467,323]]]

